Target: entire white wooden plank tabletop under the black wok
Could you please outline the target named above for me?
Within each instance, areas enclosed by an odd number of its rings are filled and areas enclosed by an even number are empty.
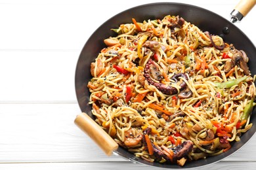
[[[229,20],[238,1],[179,2]],[[81,112],[74,76],[83,45],[110,17],[154,2],[0,0],[0,169],[156,169],[105,156],[74,124]],[[253,9],[236,24],[254,44],[255,16]],[[253,169],[255,154],[254,136],[238,152],[207,168]]]

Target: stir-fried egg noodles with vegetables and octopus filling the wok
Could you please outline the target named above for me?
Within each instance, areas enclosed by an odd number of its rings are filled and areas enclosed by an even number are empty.
[[[91,63],[95,121],[147,161],[184,165],[228,151],[252,126],[245,52],[179,16],[131,21]]]

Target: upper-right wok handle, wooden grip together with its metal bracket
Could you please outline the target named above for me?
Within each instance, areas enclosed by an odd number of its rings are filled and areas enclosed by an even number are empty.
[[[248,12],[253,9],[256,4],[256,0],[241,0],[238,5],[231,12],[232,22],[237,22],[238,20],[242,20]]]

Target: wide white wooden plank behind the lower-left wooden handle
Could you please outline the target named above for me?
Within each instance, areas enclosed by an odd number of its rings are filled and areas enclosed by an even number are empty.
[[[75,126],[79,112],[77,103],[0,104],[0,162],[126,161],[105,156]],[[224,161],[256,161],[255,152],[254,136]]]

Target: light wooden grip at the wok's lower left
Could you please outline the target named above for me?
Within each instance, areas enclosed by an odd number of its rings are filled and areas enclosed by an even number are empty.
[[[75,118],[75,124],[93,141],[95,141],[98,146],[105,152],[106,155],[112,155],[114,150],[117,150],[118,144],[102,129],[96,122],[88,116],[85,112],[77,115]]]

